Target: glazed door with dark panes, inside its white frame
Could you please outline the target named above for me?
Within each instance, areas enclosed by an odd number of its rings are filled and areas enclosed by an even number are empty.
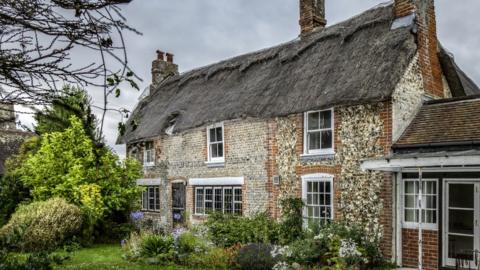
[[[473,265],[478,246],[478,184],[447,182],[445,200],[444,259],[447,265]]]

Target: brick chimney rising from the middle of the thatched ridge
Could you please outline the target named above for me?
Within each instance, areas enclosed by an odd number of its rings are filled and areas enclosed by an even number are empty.
[[[325,20],[325,0],[300,0],[301,35],[323,29]]]

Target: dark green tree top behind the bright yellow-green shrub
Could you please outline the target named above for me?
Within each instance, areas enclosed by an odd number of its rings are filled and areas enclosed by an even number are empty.
[[[72,116],[80,119],[85,133],[93,141],[96,136],[96,118],[90,108],[91,98],[88,93],[76,86],[65,85],[62,91],[53,97],[51,106],[35,113],[35,133],[44,135],[52,132],[63,132],[70,127]]]

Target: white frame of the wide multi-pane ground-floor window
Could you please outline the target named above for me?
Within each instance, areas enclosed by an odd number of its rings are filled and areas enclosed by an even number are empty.
[[[215,209],[215,204],[217,203],[216,201],[216,198],[215,198],[215,190],[221,190],[222,191],[222,213],[226,213],[225,212],[225,190],[231,190],[232,191],[232,212],[229,213],[229,214],[239,214],[239,215],[243,215],[243,197],[244,197],[244,194],[243,194],[243,188],[241,186],[197,186],[195,187],[195,194],[194,194],[194,202],[193,202],[193,205],[194,205],[194,213],[196,216],[207,216],[208,214],[206,214],[205,210],[205,198],[206,198],[206,192],[205,190],[212,190],[212,211],[216,211]],[[198,190],[203,190],[203,205],[202,205],[202,209],[203,211],[201,213],[199,213],[197,211],[197,191]],[[240,190],[241,194],[242,194],[242,201],[237,201],[235,200],[235,190]],[[208,200],[210,202],[210,200]],[[235,203],[239,203],[241,205],[241,209],[240,209],[240,213],[236,213],[235,212]]]

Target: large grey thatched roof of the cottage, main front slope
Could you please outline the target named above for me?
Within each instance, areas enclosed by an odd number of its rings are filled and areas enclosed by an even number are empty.
[[[411,25],[378,6],[308,37],[167,79],[142,100],[118,143],[238,118],[270,118],[387,100],[416,54]],[[132,124],[135,123],[135,124]],[[135,128],[136,126],[136,128]]]

